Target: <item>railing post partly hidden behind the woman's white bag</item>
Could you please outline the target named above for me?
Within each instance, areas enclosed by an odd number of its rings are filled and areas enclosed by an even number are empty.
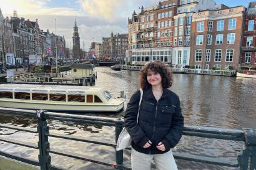
[[[117,143],[117,139],[122,131],[122,120],[121,118],[117,118],[116,120],[116,143]],[[116,163],[117,164],[122,164],[124,161],[124,158],[123,158],[123,151],[116,151]]]

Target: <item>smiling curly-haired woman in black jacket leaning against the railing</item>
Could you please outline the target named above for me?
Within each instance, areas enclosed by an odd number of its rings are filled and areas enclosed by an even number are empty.
[[[157,60],[140,70],[139,86],[143,90],[140,113],[140,90],[127,105],[124,123],[132,138],[132,170],[149,170],[152,159],[158,170],[175,170],[177,165],[170,148],[179,143],[184,127],[179,97],[169,87],[172,74]]]

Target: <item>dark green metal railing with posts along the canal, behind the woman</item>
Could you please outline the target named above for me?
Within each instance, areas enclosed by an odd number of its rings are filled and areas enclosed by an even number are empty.
[[[25,131],[29,133],[38,133],[39,141],[38,144],[24,143],[13,139],[0,138],[0,141],[7,143],[17,144],[26,146],[33,149],[39,149],[38,160],[21,158],[13,154],[9,154],[0,151],[0,155],[6,156],[7,158],[16,159],[24,163],[39,166],[41,169],[62,169],[51,165],[51,155],[58,154],[61,156],[67,156],[69,158],[80,159],[89,161],[92,163],[102,164],[105,166],[111,166],[115,169],[131,169],[130,164],[123,163],[123,151],[116,151],[116,162],[107,159],[97,159],[91,156],[84,156],[77,153],[69,153],[67,151],[60,151],[57,149],[51,149],[48,138],[62,138],[70,139],[73,141],[81,141],[84,143],[101,144],[104,146],[110,146],[116,148],[116,142],[106,141],[102,139],[82,138],[79,136],[60,135],[51,133],[47,125],[47,120],[60,120],[60,121],[72,121],[80,123],[89,123],[94,125],[114,126],[116,130],[116,141],[119,134],[124,126],[124,121],[121,118],[102,118],[99,116],[86,116],[86,115],[70,115],[66,113],[54,113],[44,110],[31,111],[31,110],[20,110],[12,108],[0,108],[0,113],[8,115],[20,115],[20,116],[31,116],[38,119],[37,130],[31,130],[29,128],[21,128],[18,126],[2,125],[0,128],[9,128],[12,130]],[[242,141],[244,147],[241,146],[241,151],[236,155],[237,159],[220,159],[212,158],[208,156],[198,156],[193,154],[174,153],[174,158],[182,159],[187,161],[194,161],[198,163],[207,163],[227,167],[237,167],[241,170],[254,170],[256,168],[256,130],[244,129],[244,130],[228,130],[224,128],[210,128],[202,126],[185,126],[185,136],[197,136],[202,138],[212,139],[225,139],[229,141]],[[130,148],[127,148],[130,149]]]

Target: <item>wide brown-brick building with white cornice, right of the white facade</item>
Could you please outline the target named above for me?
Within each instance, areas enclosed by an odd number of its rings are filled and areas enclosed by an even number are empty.
[[[238,69],[244,12],[245,7],[238,6],[193,14],[190,67]]]

